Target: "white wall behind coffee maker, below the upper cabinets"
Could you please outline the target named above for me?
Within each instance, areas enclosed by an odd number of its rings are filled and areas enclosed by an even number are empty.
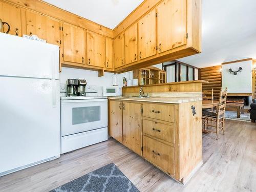
[[[66,83],[67,79],[86,79],[87,84],[94,84],[96,86],[112,86],[114,73],[104,73],[104,76],[98,77],[97,71],[75,69],[75,68],[65,68],[62,67],[60,73],[60,83]],[[117,74],[118,86],[122,86],[123,77],[127,80],[133,78],[133,72],[126,72]]]

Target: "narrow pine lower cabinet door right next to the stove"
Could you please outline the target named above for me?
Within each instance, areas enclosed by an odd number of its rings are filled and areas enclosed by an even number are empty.
[[[122,102],[110,101],[110,135],[120,143],[123,143],[122,126]]]

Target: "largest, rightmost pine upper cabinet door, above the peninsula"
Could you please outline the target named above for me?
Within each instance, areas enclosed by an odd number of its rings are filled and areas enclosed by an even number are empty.
[[[157,7],[158,52],[186,44],[186,0],[164,0]]]

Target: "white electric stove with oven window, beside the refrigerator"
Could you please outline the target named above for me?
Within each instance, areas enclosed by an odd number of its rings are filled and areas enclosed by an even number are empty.
[[[61,154],[108,140],[108,99],[97,86],[86,96],[61,97]]]

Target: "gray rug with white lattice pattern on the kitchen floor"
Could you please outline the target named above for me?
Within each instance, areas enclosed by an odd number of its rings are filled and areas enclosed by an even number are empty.
[[[139,191],[127,179],[114,163],[105,165],[93,172],[61,185],[50,192],[137,192]]]

